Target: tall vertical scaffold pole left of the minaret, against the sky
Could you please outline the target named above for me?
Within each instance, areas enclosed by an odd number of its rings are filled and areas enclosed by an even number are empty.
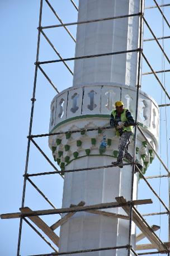
[[[40,12],[39,12],[39,27],[41,26],[41,17],[42,17],[42,10],[43,10],[43,0],[40,0]],[[38,36],[37,36],[37,51],[36,51],[36,62],[39,61],[39,49],[40,49],[40,30],[38,31]],[[33,91],[32,91],[32,105],[31,105],[31,115],[30,115],[30,126],[29,126],[29,136],[31,135],[32,131],[32,120],[33,120],[33,115],[34,115],[34,103],[35,103],[35,90],[36,90],[36,80],[37,80],[37,65],[35,66],[35,75],[34,75],[34,86],[33,86]],[[25,162],[25,176],[23,180],[23,191],[22,191],[22,206],[24,207],[24,202],[25,202],[25,191],[26,191],[26,174],[28,170],[28,164],[29,164],[29,155],[30,155],[30,138],[28,139],[27,143],[27,153],[26,153],[26,162]],[[21,244],[21,232],[22,232],[22,217],[20,218],[20,227],[19,227],[19,232],[18,232],[18,246],[17,246],[17,256],[20,256],[20,244]]]

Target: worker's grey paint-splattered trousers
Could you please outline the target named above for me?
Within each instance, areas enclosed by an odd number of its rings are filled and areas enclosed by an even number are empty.
[[[117,161],[122,161],[124,157],[129,161],[133,161],[133,156],[128,153],[128,146],[130,145],[131,141],[133,140],[133,132],[125,131],[122,133],[119,141],[119,154],[117,156]]]

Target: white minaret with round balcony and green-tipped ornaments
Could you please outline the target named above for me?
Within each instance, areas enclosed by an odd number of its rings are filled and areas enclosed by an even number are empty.
[[[140,0],[79,0],[78,21],[102,19],[140,12]],[[139,16],[92,22],[77,26],[75,56],[120,52],[139,48]],[[135,117],[138,52],[86,58],[74,62],[73,86],[51,102],[50,132],[109,126],[116,100],[122,100]],[[138,121],[150,143],[158,146],[158,106],[140,91]],[[106,152],[100,153],[103,135]],[[62,169],[104,166],[116,161],[119,138],[114,129],[77,132],[49,137],[54,160]],[[133,154],[133,143],[129,152]],[[138,134],[136,158],[145,172],[154,155]],[[139,177],[134,176],[134,200]],[[130,200],[131,166],[105,168],[64,175],[63,204],[86,205],[114,202],[116,196]],[[121,208],[105,211],[125,214]],[[60,252],[128,244],[129,221],[88,212],[75,213],[60,229]],[[132,244],[135,246],[135,225]],[[127,250],[110,250],[86,255],[127,255]]]

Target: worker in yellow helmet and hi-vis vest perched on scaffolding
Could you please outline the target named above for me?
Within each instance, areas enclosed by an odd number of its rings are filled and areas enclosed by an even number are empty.
[[[116,109],[113,109],[110,117],[110,126],[115,127],[116,135],[120,136],[119,141],[119,153],[117,161],[112,162],[114,166],[123,167],[124,157],[129,161],[133,162],[133,156],[128,152],[128,147],[133,140],[133,126],[137,125],[134,121],[133,116],[127,108],[124,108],[124,103],[117,101],[115,103]],[[138,168],[141,170],[143,166],[140,163],[136,163]],[[135,172],[138,171],[135,168]]]

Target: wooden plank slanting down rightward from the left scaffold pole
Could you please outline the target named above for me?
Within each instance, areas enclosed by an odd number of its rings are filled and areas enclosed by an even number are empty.
[[[27,213],[32,213],[32,211],[29,207],[23,207],[21,209],[21,212],[26,213],[26,214]],[[54,233],[54,231],[51,230],[51,228],[48,225],[46,225],[46,223],[43,220],[41,220],[41,218],[39,216],[32,216],[32,217],[28,217],[28,218],[32,222],[34,222],[35,225],[37,227],[39,227],[44,232],[44,234],[47,235],[49,237],[49,239],[51,239],[51,241],[53,241],[53,243],[55,245],[57,245],[59,247],[59,237],[58,237],[58,235],[56,235]]]

